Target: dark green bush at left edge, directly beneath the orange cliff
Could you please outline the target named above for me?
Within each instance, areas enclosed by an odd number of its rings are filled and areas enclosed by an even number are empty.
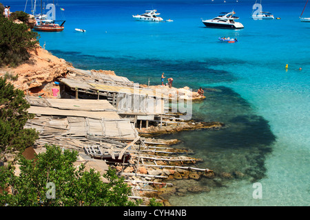
[[[23,151],[38,138],[34,129],[23,129],[33,117],[27,111],[30,104],[24,97],[23,91],[7,83],[6,78],[0,78],[0,152]]]

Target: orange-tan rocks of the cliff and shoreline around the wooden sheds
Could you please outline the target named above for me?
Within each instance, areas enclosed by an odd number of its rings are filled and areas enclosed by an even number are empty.
[[[52,97],[52,88],[57,87],[57,85],[54,85],[54,81],[59,77],[65,77],[67,69],[72,65],[61,58],[53,56],[41,47],[37,48],[31,55],[28,63],[14,69],[1,69],[0,76],[17,75],[17,80],[11,80],[11,83],[14,87],[23,90],[25,94]],[[115,75],[112,71],[100,70],[96,72]],[[145,87],[145,85],[141,85],[141,87]],[[167,88],[163,87],[162,89]],[[187,98],[190,96],[192,100],[205,98],[205,96],[198,96],[196,92],[190,91],[189,88],[172,89],[174,89],[175,94],[182,94]],[[163,202],[164,206],[170,206],[167,200],[169,195],[209,191],[207,186],[193,183],[201,179],[213,179],[215,175],[213,170],[198,168],[197,164],[201,162],[201,159],[189,157],[192,152],[187,149],[174,148],[173,145],[178,143],[179,140],[156,139],[156,144],[154,144],[154,140],[147,137],[197,129],[221,129],[223,126],[225,125],[221,122],[171,119],[165,120],[161,126],[151,125],[147,128],[136,128],[139,135],[145,137],[145,140],[150,143],[142,148],[144,155],[142,153],[138,155],[132,153],[132,159],[127,165],[110,164],[110,166],[117,170],[118,175],[127,177],[126,181],[132,187],[132,192],[134,192],[132,199],[143,199],[143,204],[147,205],[149,199],[155,197],[158,201]],[[135,147],[137,148],[137,146]],[[13,156],[11,154],[5,155],[3,161],[6,164],[14,162]],[[144,160],[142,159],[140,162],[142,157],[144,157]],[[138,165],[134,159],[138,159]],[[179,186],[176,181],[180,179],[187,184]],[[171,184],[171,181],[175,184]]]

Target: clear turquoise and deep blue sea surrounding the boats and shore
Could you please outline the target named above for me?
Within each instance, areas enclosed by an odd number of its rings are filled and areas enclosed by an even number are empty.
[[[1,2],[11,12],[25,9],[25,1]],[[175,87],[203,87],[207,98],[193,104],[194,118],[225,123],[218,131],[163,136],[182,140],[176,147],[192,148],[204,159],[199,166],[217,174],[183,181],[209,190],[176,193],[169,197],[173,206],[309,206],[310,23],[299,21],[306,1],[262,0],[264,11],[281,18],[270,21],[251,19],[255,1],[249,0],[55,2],[65,9],[56,11],[65,30],[40,33],[46,50],[76,68],[110,69],[141,84],[159,85],[165,72]],[[152,9],[174,22],[132,18]],[[244,29],[201,22],[231,10]],[[304,16],[310,17],[310,5]],[[238,43],[221,43],[219,36]]]

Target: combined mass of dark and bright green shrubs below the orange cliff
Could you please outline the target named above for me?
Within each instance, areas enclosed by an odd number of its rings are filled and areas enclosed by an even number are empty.
[[[77,151],[46,145],[46,152],[25,159],[38,132],[24,129],[33,118],[30,104],[20,89],[0,78],[0,206],[137,206],[130,201],[131,188],[109,168],[105,175],[85,165],[76,166]],[[6,153],[14,152],[17,163],[3,166]],[[20,172],[17,172],[16,165]],[[107,181],[103,181],[105,178]],[[161,206],[154,199],[149,206]]]

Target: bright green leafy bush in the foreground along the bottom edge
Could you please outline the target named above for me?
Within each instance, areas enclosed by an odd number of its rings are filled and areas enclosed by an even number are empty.
[[[62,150],[59,146],[46,145],[46,152],[35,159],[19,160],[21,173],[0,168],[0,188],[10,185],[14,193],[0,194],[0,206],[135,206],[128,201],[131,190],[109,168],[102,176],[82,164],[74,166],[77,151]],[[2,169],[2,170],[1,170]],[[48,183],[52,183],[49,187]],[[53,190],[54,189],[54,197]],[[50,193],[50,194],[49,194]]]

